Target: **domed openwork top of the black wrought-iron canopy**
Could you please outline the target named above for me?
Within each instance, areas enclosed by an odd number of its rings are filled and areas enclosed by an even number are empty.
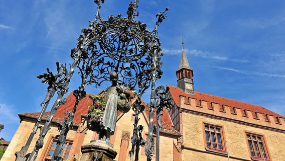
[[[133,89],[140,85],[144,92],[151,84],[152,71],[156,70],[157,77],[161,77],[160,42],[156,30],[150,32],[146,27],[131,15],[90,21],[89,27],[82,29],[77,48],[71,53],[73,58],[82,53],[78,68],[82,79],[88,74],[86,85],[100,86],[108,81],[109,73],[115,71],[122,78],[121,84]],[[159,54],[154,55],[155,52]]]

